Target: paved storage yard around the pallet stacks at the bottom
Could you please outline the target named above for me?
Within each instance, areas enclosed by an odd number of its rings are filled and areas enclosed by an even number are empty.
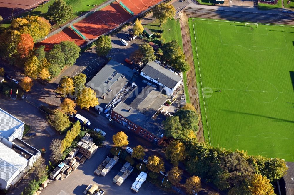
[[[91,159],[86,160],[83,165],[80,165],[75,171],[73,171],[64,180],[52,181],[46,188],[42,190],[42,194],[83,194],[83,191],[89,184],[96,184],[98,188],[105,190],[106,194],[171,194],[166,193],[147,180],[142,184],[138,193],[131,189],[133,182],[135,181],[138,173],[136,173],[136,167],[131,175],[121,184],[116,185],[112,182],[113,177],[121,170],[123,164],[119,162],[103,177],[97,176],[94,171],[98,165],[106,158],[108,149],[98,148],[97,152]]]

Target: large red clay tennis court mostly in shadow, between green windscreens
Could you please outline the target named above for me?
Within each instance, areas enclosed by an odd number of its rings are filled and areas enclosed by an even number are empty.
[[[89,40],[93,40],[103,33],[116,28],[131,17],[131,14],[124,10],[117,2],[114,2],[75,23],[74,27]]]

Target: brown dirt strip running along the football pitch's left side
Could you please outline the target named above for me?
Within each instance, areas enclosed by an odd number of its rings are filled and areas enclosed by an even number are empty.
[[[188,89],[189,89],[189,96],[191,100],[191,104],[196,108],[199,114],[199,130],[197,131],[197,139],[199,142],[204,142],[204,135],[203,135],[203,126],[202,126],[202,119],[201,119],[201,111],[199,105],[199,98],[198,98],[198,90],[197,90],[197,82],[196,82],[196,75],[195,75],[195,68],[194,68],[194,61],[193,61],[193,52],[191,46],[191,37],[189,31],[189,23],[188,17],[182,13],[180,18],[181,24],[181,31],[182,31],[182,40],[183,40],[183,48],[184,54],[186,56],[186,61],[190,64],[190,70],[187,72],[188,78]],[[188,95],[188,94],[186,94]]]

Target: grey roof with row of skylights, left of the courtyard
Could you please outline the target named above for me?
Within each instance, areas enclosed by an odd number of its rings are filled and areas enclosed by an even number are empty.
[[[135,71],[123,64],[110,60],[86,85],[95,90],[99,106],[104,108],[131,80],[134,73]]]

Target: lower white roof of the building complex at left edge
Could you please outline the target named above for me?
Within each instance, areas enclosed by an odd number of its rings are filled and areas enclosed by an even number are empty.
[[[0,178],[8,182],[14,173],[27,164],[27,160],[0,142]]]

